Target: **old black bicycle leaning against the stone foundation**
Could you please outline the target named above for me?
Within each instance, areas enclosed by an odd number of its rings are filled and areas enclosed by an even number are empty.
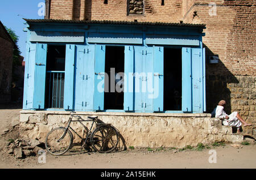
[[[87,147],[92,145],[95,151],[100,153],[109,153],[114,151],[117,148],[118,144],[118,132],[111,125],[106,124],[98,117],[89,117],[88,119],[82,119],[79,115],[73,114],[75,112],[71,112],[71,117],[68,119],[68,123],[66,127],[57,127],[53,128],[53,130],[49,131],[46,136],[45,147],[47,151],[51,155],[63,155],[65,152],[71,148],[73,144],[73,132],[81,139],[81,147]],[[77,120],[73,120],[73,117],[77,118]],[[86,131],[88,128],[82,122],[92,122],[92,126],[86,135],[86,139],[84,140],[73,128],[70,126],[71,122],[80,122]],[[96,124],[96,128],[92,130],[92,127]],[[84,140],[84,143],[82,143]]]

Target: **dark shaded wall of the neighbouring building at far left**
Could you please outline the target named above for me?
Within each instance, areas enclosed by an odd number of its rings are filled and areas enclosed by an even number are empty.
[[[11,101],[13,42],[0,26],[0,104]]]

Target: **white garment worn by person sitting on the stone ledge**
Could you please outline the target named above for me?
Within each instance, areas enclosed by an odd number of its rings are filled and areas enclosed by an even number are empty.
[[[242,126],[241,121],[237,118],[237,112],[233,112],[230,115],[228,115],[229,119],[225,119],[226,117],[224,107],[223,106],[217,106],[216,108],[216,118],[220,118],[222,120],[223,125],[225,126],[232,126],[232,127],[240,127]]]

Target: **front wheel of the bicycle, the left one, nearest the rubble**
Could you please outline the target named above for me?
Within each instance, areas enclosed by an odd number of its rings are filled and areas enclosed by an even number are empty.
[[[71,147],[73,142],[72,134],[64,127],[57,127],[49,131],[46,136],[46,150],[51,155],[63,155]]]

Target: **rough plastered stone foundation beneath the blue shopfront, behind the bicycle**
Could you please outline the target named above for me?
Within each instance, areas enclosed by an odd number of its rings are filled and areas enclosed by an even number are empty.
[[[122,147],[177,147],[196,146],[198,143],[242,142],[243,136],[232,134],[231,127],[221,125],[221,121],[210,118],[210,114],[157,114],[157,113],[95,113],[77,112],[82,118],[97,115],[101,121],[112,123],[121,135]],[[65,126],[69,112],[30,111],[20,112],[20,136],[24,139],[38,139],[44,142],[52,128]],[[86,122],[88,128],[91,122]],[[83,134],[79,122],[71,127]],[[74,135],[74,142],[79,141]]]

